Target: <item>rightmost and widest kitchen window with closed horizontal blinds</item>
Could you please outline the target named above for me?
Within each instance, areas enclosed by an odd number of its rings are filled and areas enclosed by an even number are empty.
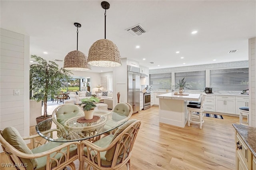
[[[210,87],[217,91],[242,91],[249,88],[249,68],[210,70]]]

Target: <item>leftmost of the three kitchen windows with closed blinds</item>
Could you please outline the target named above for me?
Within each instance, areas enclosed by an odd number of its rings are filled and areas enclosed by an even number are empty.
[[[149,79],[153,89],[172,89],[172,73],[150,74]]]

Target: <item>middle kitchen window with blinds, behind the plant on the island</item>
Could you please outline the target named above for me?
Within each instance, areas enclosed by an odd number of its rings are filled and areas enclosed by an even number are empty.
[[[204,90],[205,87],[205,71],[190,71],[183,73],[175,73],[175,85],[179,83],[179,80],[184,79],[188,84],[184,89],[189,90]]]

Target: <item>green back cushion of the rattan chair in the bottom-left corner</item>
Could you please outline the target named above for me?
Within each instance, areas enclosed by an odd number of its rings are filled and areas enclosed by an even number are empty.
[[[16,128],[6,127],[3,130],[3,137],[9,144],[20,152],[33,154]],[[20,158],[20,160],[23,164],[27,164],[29,169],[34,169],[38,165],[38,161],[36,159]]]

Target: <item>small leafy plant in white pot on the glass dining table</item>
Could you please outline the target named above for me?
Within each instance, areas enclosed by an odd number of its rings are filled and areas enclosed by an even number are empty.
[[[84,117],[86,120],[93,118],[94,108],[97,107],[95,103],[98,103],[100,100],[97,97],[90,97],[86,99],[82,99],[82,103],[79,104],[84,110]]]

